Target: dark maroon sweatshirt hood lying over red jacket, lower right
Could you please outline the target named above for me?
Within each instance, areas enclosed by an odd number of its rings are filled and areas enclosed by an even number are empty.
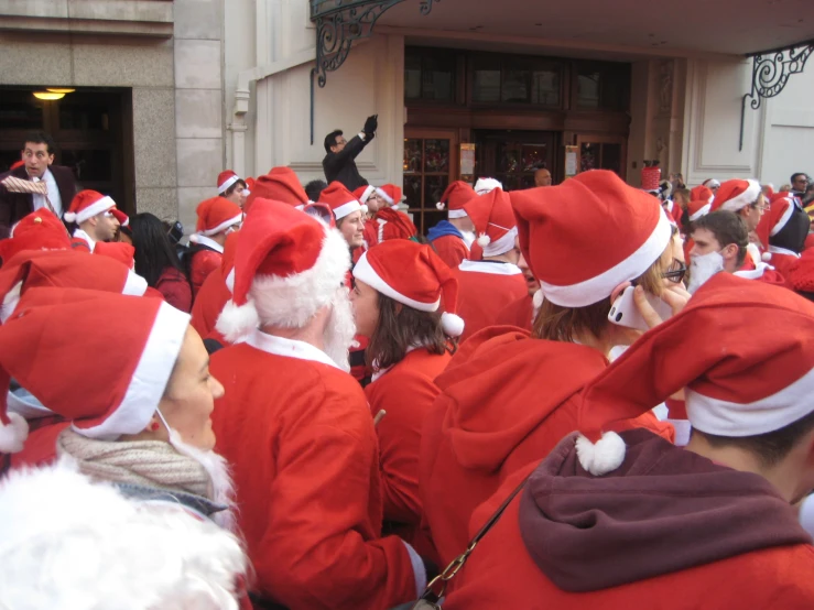
[[[762,477],[717,465],[644,429],[594,477],[571,435],[532,473],[520,532],[538,567],[565,591],[616,587],[768,547],[811,544],[789,502]]]

